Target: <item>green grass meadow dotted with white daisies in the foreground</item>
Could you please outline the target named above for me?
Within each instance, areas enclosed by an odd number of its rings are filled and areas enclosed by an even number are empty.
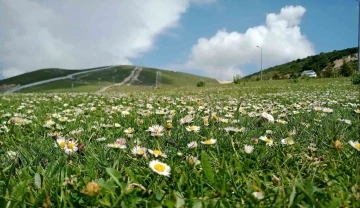
[[[360,91],[349,79],[119,92],[2,95],[0,207],[360,206],[360,151],[349,144],[360,141]],[[163,135],[151,136],[152,125]],[[119,138],[126,148],[108,146]],[[216,143],[201,143],[210,138]],[[137,145],[167,157],[134,155]],[[155,159],[169,177],[149,167]]]

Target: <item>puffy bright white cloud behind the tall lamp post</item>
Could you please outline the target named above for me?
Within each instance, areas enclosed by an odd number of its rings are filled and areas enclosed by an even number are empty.
[[[249,28],[245,33],[218,31],[215,36],[200,38],[192,47],[185,68],[205,70],[207,75],[230,79],[247,64],[258,64],[263,49],[264,67],[304,58],[315,53],[311,42],[301,34],[300,23],[306,9],[287,6],[279,14],[267,14],[266,24]],[[251,73],[251,72],[247,72]]]

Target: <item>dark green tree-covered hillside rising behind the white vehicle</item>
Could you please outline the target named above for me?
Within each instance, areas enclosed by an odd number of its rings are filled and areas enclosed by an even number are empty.
[[[304,70],[314,70],[321,75],[324,69],[338,68],[342,65],[342,59],[348,60],[351,67],[357,64],[358,48],[347,48],[344,50],[334,50],[333,52],[320,53],[307,58],[297,59],[289,63],[277,65],[263,70],[263,79],[273,78],[275,75],[285,78],[291,74],[300,74]],[[356,67],[355,67],[356,68]],[[260,77],[260,71],[245,76],[245,79],[257,79]]]

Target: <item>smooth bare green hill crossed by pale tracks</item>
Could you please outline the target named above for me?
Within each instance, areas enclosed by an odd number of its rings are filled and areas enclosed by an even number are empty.
[[[112,85],[118,85],[119,83],[123,83],[125,86],[132,85],[149,88],[155,86],[157,71],[160,72],[158,79],[161,86],[195,86],[199,80],[204,80],[208,84],[218,84],[215,79],[207,77],[147,67],[141,67],[141,70],[138,70],[136,77],[132,77],[133,79],[130,81],[124,82],[126,78],[132,76],[132,72],[135,68],[136,66],[120,65],[84,70],[66,70],[59,68],[40,69],[0,80],[0,92],[1,87],[2,91],[5,92],[9,89],[9,86],[32,85],[33,83],[43,82],[44,80],[49,79],[55,80],[24,88],[19,92],[70,92],[72,84],[74,85],[75,92],[96,92],[104,87],[111,87]],[[64,77],[64,79],[61,77]],[[61,80],[56,80],[59,78],[61,78]]]

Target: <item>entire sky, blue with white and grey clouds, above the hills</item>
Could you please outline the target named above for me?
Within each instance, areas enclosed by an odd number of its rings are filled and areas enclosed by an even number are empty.
[[[91,14],[89,16],[88,14]],[[355,0],[0,0],[0,79],[134,64],[231,79],[357,46]]]

